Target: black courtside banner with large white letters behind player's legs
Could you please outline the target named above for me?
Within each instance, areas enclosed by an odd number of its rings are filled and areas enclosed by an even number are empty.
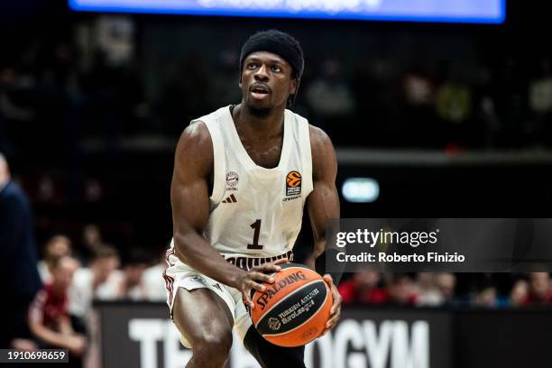
[[[100,343],[94,366],[181,368],[191,350],[161,303],[101,302],[97,311]],[[307,368],[452,368],[453,317],[446,310],[343,308],[339,324],[306,346]],[[285,362],[284,362],[285,363]],[[260,368],[238,336],[228,368]]]

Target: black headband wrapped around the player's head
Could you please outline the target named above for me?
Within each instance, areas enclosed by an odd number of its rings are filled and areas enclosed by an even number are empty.
[[[303,51],[299,42],[288,33],[271,30],[253,34],[245,41],[240,55],[240,73],[244,69],[245,58],[255,51],[267,51],[280,55],[282,59],[290,63],[293,76],[300,79],[305,69]]]

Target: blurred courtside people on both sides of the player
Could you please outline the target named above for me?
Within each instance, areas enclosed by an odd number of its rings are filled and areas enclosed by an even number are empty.
[[[64,348],[69,366],[89,349],[95,301],[163,301],[165,253],[108,244],[98,225],[78,238],[56,234],[37,246],[33,212],[0,154],[0,290],[10,302],[0,346]],[[39,252],[40,251],[40,252]],[[393,273],[358,270],[338,285],[344,305],[448,308],[552,308],[547,272]]]

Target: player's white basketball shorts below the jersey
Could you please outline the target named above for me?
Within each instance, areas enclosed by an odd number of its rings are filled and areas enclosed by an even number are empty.
[[[176,292],[179,288],[184,288],[186,290],[206,288],[213,291],[225,301],[226,306],[230,309],[230,313],[232,313],[232,317],[234,317],[235,331],[243,341],[247,330],[252,326],[253,322],[245,308],[244,301],[242,300],[242,293],[237,289],[230,288],[229,286],[199,273],[189,267],[188,264],[180,262],[174,253],[170,252],[171,249],[167,252],[169,268],[167,268],[163,275],[167,286],[167,304],[170,308],[170,316],[172,316],[172,307],[174,305],[174,299],[176,298]],[[185,336],[180,337],[180,343],[186,347],[191,347]]]

